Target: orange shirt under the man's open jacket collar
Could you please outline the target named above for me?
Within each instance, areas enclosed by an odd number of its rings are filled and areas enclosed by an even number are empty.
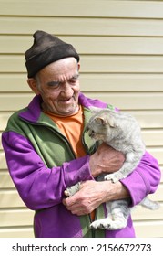
[[[83,108],[80,106],[79,111],[70,116],[56,115],[51,112],[45,113],[56,123],[61,133],[66,136],[74,150],[76,158],[86,155],[85,148],[82,144],[82,131],[84,127]],[[91,219],[95,219],[95,211],[91,212]]]

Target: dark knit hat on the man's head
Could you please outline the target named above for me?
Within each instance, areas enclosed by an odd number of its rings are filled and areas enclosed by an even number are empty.
[[[39,30],[33,37],[33,46],[25,52],[28,78],[34,77],[39,70],[59,59],[74,57],[79,61],[76,49],[58,37]]]

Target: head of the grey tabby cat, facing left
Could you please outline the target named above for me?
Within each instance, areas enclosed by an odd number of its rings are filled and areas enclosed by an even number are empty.
[[[113,139],[116,128],[116,119],[112,112],[107,109],[98,110],[87,123],[87,133],[96,141],[108,141]]]

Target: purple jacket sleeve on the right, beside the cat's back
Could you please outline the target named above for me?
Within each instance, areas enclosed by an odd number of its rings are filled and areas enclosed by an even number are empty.
[[[161,172],[158,161],[148,152],[143,155],[136,169],[121,183],[127,187],[131,197],[131,207],[137,205],[148,194],[158,188]]]

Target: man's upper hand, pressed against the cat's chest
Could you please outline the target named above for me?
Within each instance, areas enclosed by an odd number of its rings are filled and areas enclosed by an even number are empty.
[[[121,168],[125,161],[125,156],[112,148],[111,146],[103,143],[97,151],[90,156],[89,165],[92,176],[96,177],[100,174],[109,174],[116,172]]]

